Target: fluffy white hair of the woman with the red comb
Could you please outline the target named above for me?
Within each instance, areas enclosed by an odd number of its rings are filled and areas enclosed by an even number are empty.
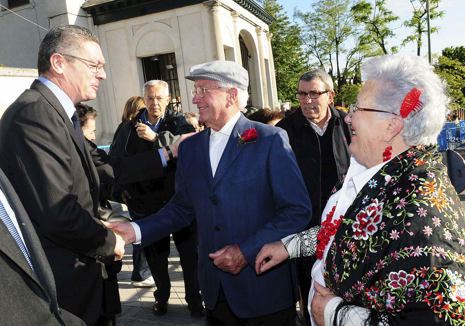
[[[400,114],[405,96],[416,87],[421,91],[421,109],[412,119],[405,119],[402,136],[407,146],[436,144],[438,134],[445,124],[451,99],[447,85],[433,72],[426,59],[413,55],[383,55],[371,58],[362,66],[366,80],[373,79],[382,85],[377,90],[377,109]],[[388,113],[377,113],[387,116]],[[389,114],[390,115],[390,114]]]

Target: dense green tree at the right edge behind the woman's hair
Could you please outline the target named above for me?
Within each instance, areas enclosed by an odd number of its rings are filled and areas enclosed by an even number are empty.
[[[435,68],[447,82],[452,109],[465,107],[465,47],[446,47]]]

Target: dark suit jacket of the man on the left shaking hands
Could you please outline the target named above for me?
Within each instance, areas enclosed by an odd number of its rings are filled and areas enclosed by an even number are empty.
[[[18,193],[52,267],[60,307],[93,325],[102,301],[101,267],[116,238],[97,219],[100,181],[163,175],[156,151],[111,158],[83,148],[52,91],[35,80],[0,120],[0,168]],[[144,166],[143,169],[140,166]]]

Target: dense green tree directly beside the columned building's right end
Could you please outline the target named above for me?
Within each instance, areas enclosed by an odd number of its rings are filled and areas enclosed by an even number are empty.
[[[261,0],[265,10],[275,17],[270,24],[271,48],[273,52],[276,87],[280,100],[291,100],[298,105],[295,98],[299,76],[305,71],[305,56],[302,51],[300,28],[291,23],[283,7],[277,0]]]

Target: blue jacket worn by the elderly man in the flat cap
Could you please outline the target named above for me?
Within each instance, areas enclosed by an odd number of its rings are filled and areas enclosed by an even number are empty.
[[[237,146],[239,133],[255,128],[255,143]],[[286,261],[257,276],[261,247],[301,231],[311,219],[311,204],[284,130],[247,120],[233,128],[213,178],[210,129],[179,146],[176,194],[158,213],[137,221],[146,246],[197,219],[199,282],[207,309],[213,310],[220,283],[234,313],[252,318],[295,303],[291,266]],[[238,244],[247,259],[239,274],[219,270],[209,253]]]

